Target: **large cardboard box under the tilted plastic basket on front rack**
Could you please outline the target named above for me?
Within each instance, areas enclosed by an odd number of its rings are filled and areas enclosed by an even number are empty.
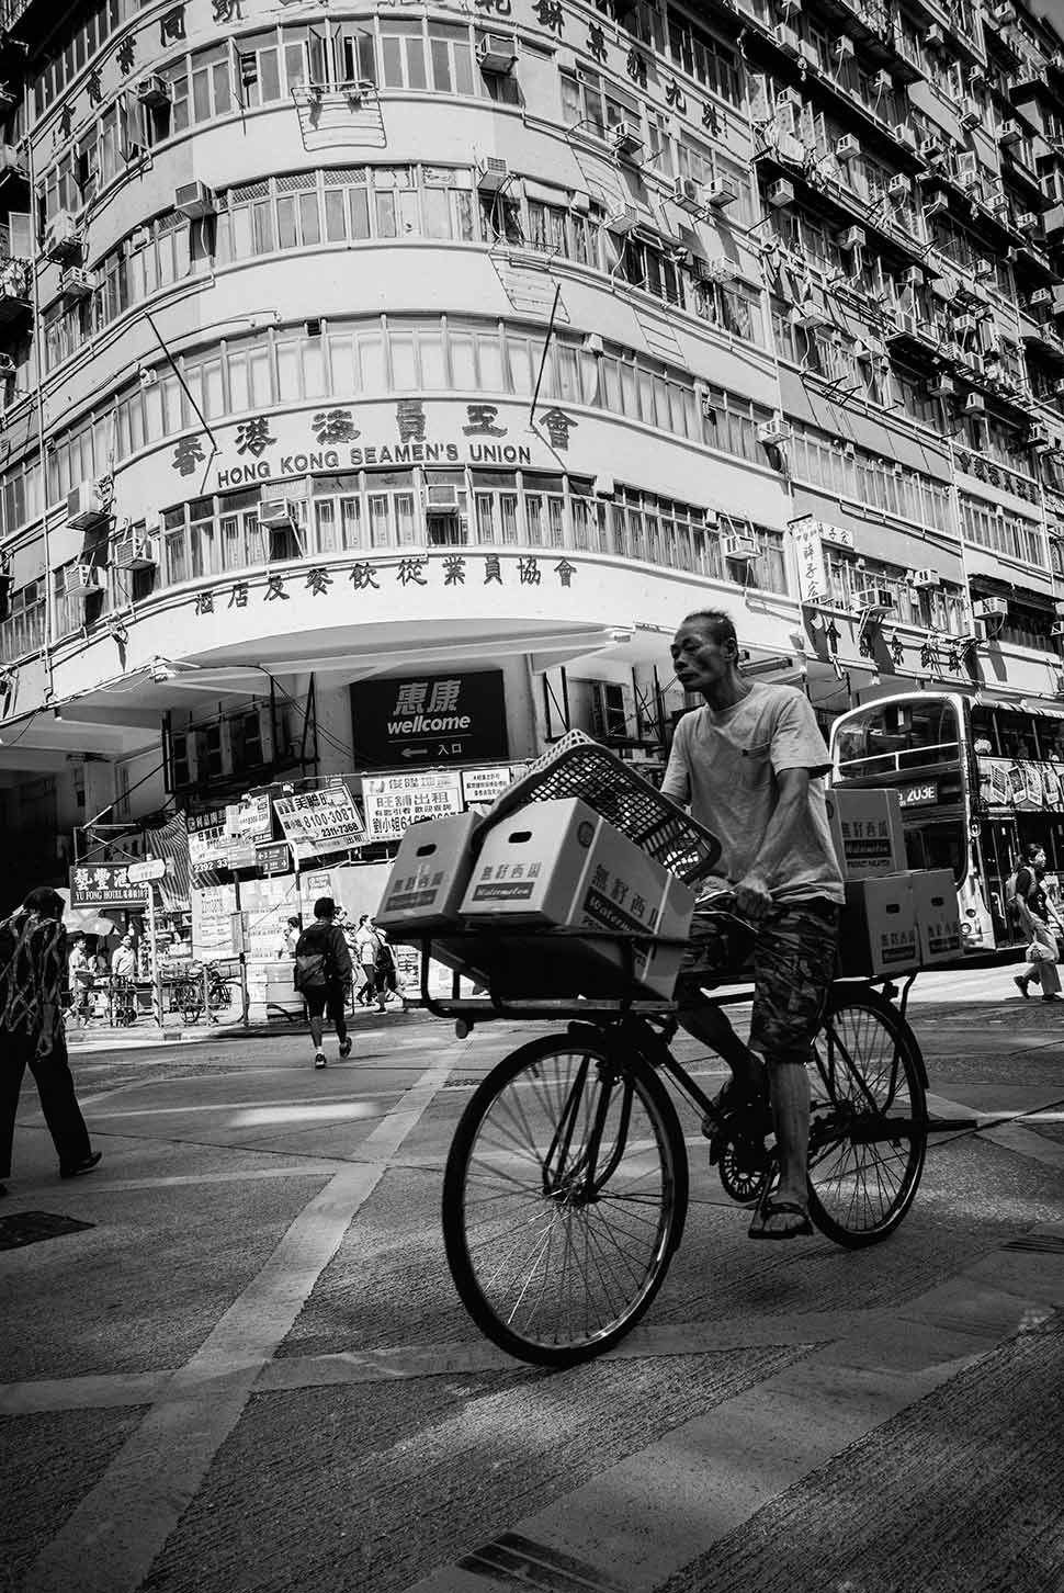
[[[473,924],[643,932],[677,945],[637,948],[636,983],[671,996],[694,892],[578,798],[529,803],[484,838],[460,913]],[[550,937],[548,937],[550,938]],[[567,941],[580,961],[624,965],[608,940]],[[586,994],[586,991],[585,991]],[[600,991],[599,991],[600,994]]]

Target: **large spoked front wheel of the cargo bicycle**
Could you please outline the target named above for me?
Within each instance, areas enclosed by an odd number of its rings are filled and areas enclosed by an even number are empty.
[[[610,1349],[664,1282],[687,1214],[687,1149],[639,1058],[532,1040],[478,1086],[443,1182],[443,1238],[476,1325],[521,1360]]]

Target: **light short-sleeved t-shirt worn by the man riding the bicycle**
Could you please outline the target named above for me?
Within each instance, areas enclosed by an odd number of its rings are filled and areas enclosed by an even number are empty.
[[[742,879],[755,865],[779,801],[784,769],[830,768],[823,736],[806,696],[793,687],[750,683],[734,707],[685,714],[675,728],[661,790],[685,803],[691,816],[722,843],[718,873]],[[823,785],[809,781],[809,801],[792,836],[785,878],[774,902],[825,897],[843,902],[843,876],[827,819]]]

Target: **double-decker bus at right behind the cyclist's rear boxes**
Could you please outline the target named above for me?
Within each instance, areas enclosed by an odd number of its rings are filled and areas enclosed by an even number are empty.
[[[1064,712],[954,691],[878,698],[831,726],[831,784],[898,792],[908,867],[953,870],[967,951],[1019,938],[1005,881],[1029,841],[1064,868]]]

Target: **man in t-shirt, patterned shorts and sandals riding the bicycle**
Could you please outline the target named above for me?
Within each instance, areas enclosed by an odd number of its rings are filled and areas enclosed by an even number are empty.
[[[677,725],[663,793],[722,843],[717,892],[734,897],[752,929],[753,1012],[745,1047],[701,991],[736,970],[737,921],[696,910],[675,988],[677,1018],[717,1050],[733,1078],[728,1110],[768,1101],[779,1147],[779,1187],[761,1201],[752,1239],[812,1231],[806,1196],[809,1061],[835,977],[843,876],[823,785],[830,761],[812,709],[793,687],[744,680],[730,615],[688,615],[672,642],[677,680],[706,706]]]

